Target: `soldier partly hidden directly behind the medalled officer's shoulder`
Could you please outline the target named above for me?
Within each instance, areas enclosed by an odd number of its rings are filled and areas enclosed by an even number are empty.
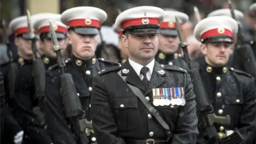
[[[187,14],[178,11],[165,11],[164,21],[161,23],[159,34],[159,50],[156,54],[156,61],[164,65],[173,65],[173,60],[182,57],[179,53],[179,37],[176,30],[175,17],[180,24],[188,21]],[[184,61],[183,61],[184,62]],[[177,61],[177,66],[180,66]]]

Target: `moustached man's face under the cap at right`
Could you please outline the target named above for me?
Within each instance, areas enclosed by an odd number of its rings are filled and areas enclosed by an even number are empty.
[[[208,43],[201,44],[201,51],[205,55],[206,62],[213,67],[227,65],[231,54],[232,43]]]

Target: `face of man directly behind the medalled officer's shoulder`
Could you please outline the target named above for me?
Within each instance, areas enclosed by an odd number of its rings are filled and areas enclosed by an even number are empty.
[[[165,54],[173,54],[178,51],[179,48],[178,36],[166,36],[159,34],[159,50]]]

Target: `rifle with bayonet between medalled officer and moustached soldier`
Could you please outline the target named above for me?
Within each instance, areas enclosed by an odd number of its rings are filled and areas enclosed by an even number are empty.
[[[184,57],[185,61],[189,65],[188,74],[190,75],[191,79],[193,79],[192,83],[194,86],[194,94],[196,95],[196,110],[197,110],[197,117],[198,117],[198,129],[202,132],[203,136],[207,138],[207,140],[210,143],[223,143],[223,144],[231,144],[231,143],[239,143],[241,142],[241,134],[236,131],[235,133],[229,135],[226,138],[220,139],[218,138],[218,133],[215,127],[215,124],[223,124],[223,125],[229,125],[230,124],[230,116],[217,116],[214,113],[214,109],[212,105],[207,100],[207,93],[205,92],[205,88],[201,79],[201,76],[199,74],[198,68],[191,69],[191,58],[189,56],[188,50],[187,50],[187,44],[183,41],[182,35],[181,35],[181,28],[180,23],[177,17],[175,17],[176,20],[176,27],[178,36],[180,39],[180,47],[184,51]],[[235,139],[235,141],[234,141]]]

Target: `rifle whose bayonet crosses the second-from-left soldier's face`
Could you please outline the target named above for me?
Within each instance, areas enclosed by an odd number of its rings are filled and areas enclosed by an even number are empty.
[[[68,119],[68,123],[70,124],[71,131],[75,134],[76,138],[78,138],[78,143],[85,144],[89,143],[89,139],[87,138],[87,134],[84,132],[86,129],[93,129],[92,122],[87,121],[85,118],[85,111],[83,110],[81,101],[77,97],[77,91],[75,87],[75,83],[73,77],[69,73],[65,73],[66,63],[62,59],[62,55],[60,53],[60,47],[57,41],[57,37],[53,28],[53,24],[50,23],[50,33],[51,40],[54,47],[54,51],[57,54],[57,62],[59,67],[61,68],[61,95],[63,100],[63,107],[65,111],[65,116]]]

